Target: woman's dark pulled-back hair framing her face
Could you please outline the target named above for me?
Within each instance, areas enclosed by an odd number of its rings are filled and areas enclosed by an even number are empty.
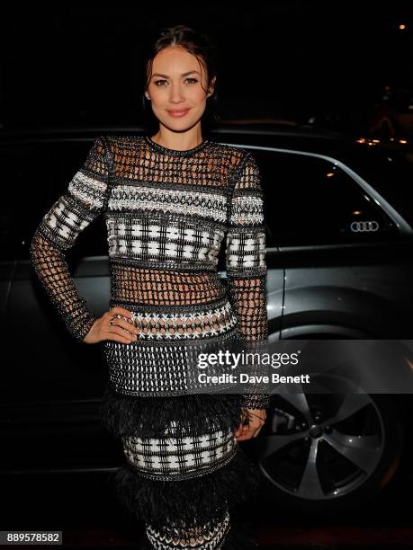
[[[156,37],[149,43],[143,65],[144,87],[142,92],[142,106],[144,125],[148,129],[152,127],[154,129],[157,128],[159,122],[148,104],[150,100],[148,100],[145,96],[145,92],[148,91],[153,60],[159,51],[169,46],[181,46],[200,61],[207,75],[208,86],[210,86],[212,78],[218,74],[218,56],[216,48],[206,34],[200,31],[195,31],[191,27],[186,27],[185,25],[164,27],[158,30]],[[208,89],[204,90],[204,92],[207,93]],[[208,129],[208,126],[211,123],[214,123],[220,119],[217,104],[218,93],[217,84],[215,83],[212,95],[207,97],[205,111],[202,115],[202,132],[203,130]]]

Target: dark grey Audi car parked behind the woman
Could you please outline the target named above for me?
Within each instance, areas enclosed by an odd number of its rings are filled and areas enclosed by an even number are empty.
[[[121,465],[121,444],[113,444],[99,418],[102,349],[79,346],[67,334],[33,275],[29,252],[40,218],[65,191],[94,137],[143,133],[133,127],[0,134],[7,182],[1,216],[4,475],[110,473]],[[251,151],[262,175],[268,342],[391,341],[397,345],[388,368],[413,365],[407,343],[413,335],[413,173],[405,150],[300,125],[227,122],[207,135]],[[98,315],[110,295],[104,231],[98,218],[67,253],[76,287]],[[218,268],[225,281],[223,250]],[[244,445],[269,498],[309,513],[334,512],[372,498],[396,473],[410,475],[409,392],[355,392],[351,379],[342,384],[328,395],[299,388],[271,396],[264,429]]]

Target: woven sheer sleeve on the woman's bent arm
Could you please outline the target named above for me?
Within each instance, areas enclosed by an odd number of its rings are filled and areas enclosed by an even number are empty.
[[[77,291],[68,269],[66,251],[102,212],[107,175],[103,141],[97,137],[85,163],[42,217],[31,239],[31,265],[36,276],[58,308],[68,332],[78,342],[83,341],[97,317]]]

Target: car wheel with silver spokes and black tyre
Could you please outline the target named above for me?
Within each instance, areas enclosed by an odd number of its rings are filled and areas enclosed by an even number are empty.
[[[396,472],[404,432],[391,396],[350,393],[352,384],[340,380],[344,387],[272,395],[253,455],[265,493],[280,505],[305,512],[354,507]]]

